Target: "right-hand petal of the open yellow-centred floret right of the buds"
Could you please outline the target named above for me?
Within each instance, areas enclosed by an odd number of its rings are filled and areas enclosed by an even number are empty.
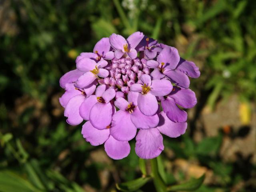
[[[154,96],[165,96],[172,91],[172,83],[166,79],[152,80],[150,93]]]

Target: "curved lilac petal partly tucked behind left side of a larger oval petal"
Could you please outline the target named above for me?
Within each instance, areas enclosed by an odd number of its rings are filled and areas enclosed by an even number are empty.
[[[80,116],[84,119],[84,120],[89,120],[90,117],[90,111],[92,109],[92,107],[94,106],[94,104],[96,104],[97,98],[95,95],[91,95],[88,98],[86,98],[84,100],[84,102],[82,102],[80,108],[79,108],[79,114]]]

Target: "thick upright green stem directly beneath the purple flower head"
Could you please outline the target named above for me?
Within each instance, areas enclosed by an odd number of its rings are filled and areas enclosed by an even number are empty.
[[[159,175],[158,172],[158,166],[157,166],[157,160],[156,158],[151,159],[151,176],[153,178],[154,185],[156,187],[157,192],[166,192],[166,186],[162,180],[162,178]]]

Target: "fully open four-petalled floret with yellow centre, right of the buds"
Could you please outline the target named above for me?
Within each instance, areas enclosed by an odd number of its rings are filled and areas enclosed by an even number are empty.
[[[165,96],[172,91],[172,83],[167,79],[151,80],[150,76],[140,76],[141,83],[132,84],[131,91],[140,92],[138,96],[138,107],[140,111],[152,116],[158,110],[156,96]]]

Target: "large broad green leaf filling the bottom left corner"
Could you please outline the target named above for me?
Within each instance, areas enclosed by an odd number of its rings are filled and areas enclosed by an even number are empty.
[[[40,192],[38,188],[32,185],[28,180],[18,174],[2,170],[0,171],[0,190],[1,192]]]

